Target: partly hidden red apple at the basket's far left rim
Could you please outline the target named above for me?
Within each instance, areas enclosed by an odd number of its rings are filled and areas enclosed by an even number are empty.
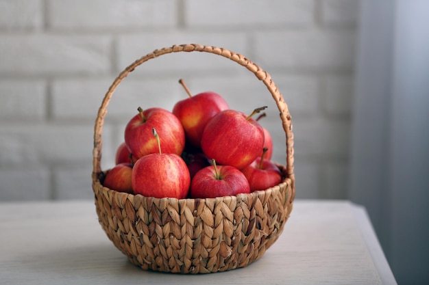
[[[131,185],[132,164],[119,163],[106,174],[103,186],[119,192],[133,193]]]

